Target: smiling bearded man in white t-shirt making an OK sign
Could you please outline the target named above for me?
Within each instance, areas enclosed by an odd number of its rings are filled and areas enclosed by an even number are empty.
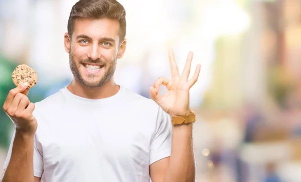
[[[72,7],[64,38],[74,79],[35,104],[27,85],[9,92],[3,109],[16,130],[3,182],[194,181],[189,89],[200,65],[188,80],[192,52],[180,75],[170,51],[172,79],[160,77],[150,87],[154,101],[117,85],[125,26],[116,0],[80,0]],[[159,95],[162,84],[168,91]]]

